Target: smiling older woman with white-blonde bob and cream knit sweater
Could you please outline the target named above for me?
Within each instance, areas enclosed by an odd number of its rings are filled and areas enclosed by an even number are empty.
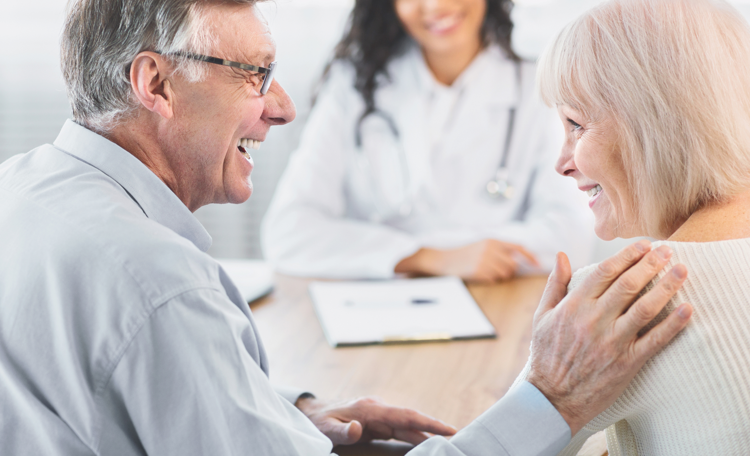
[[[694,305],[561,454],[604,429],[610,455],[750,454],[748,24],[721,0],[608,1],[562,31],[538,81],[567,132],[556,169],[589,193],[597,235],[659,239],[687,271],[658,278],[689,272],[667,308]]]

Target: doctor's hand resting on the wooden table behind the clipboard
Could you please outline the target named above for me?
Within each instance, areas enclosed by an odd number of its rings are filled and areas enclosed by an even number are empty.
[[[520,245],[485,239],[450,250],[419,249],[401,260],[395,272],[458,275],[466,281],[492,283],[513,277],[518,260],[539,266],[536,258]]]

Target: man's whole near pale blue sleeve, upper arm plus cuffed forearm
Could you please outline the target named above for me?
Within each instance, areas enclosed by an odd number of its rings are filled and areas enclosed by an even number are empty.
[[[250,353],[257,335],[217,290],[161,305],[127,346],[101,394],[103,454],[329,455],[331,441],[275,392]],[[520,383],[451,440],[413,456],[556,455],[570,440],[562,416]]]

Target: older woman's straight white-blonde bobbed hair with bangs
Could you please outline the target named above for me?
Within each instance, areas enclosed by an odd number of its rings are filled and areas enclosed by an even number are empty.
[[[617,125],[646,236],[750,187],[750,28],[725,1],[607,1],[545,50],[538,86]]]

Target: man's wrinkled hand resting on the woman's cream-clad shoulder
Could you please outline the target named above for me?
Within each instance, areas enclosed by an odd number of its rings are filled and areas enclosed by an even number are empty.
[[[649,242],[637,242],[602,262],[567,296],[570,264],[557,254],[534,315],[528,380],[568,422],[571,434],[613,404],[646,360],[687,325],[692,307],[682,304],[640,334],[687,278],[685,266],[676,265],[634,302],[671,254],[667,246],[651,251]]]

